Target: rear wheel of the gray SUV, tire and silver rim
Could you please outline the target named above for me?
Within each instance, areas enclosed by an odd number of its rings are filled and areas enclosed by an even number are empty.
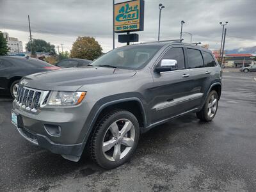
[[[215,102],[213,103],[213,101]],[[210,122],[214,116],[217,113],[218,109],[218,93],[214,90],[212,90],[205,100],[204,107],[196,113],[196,116],[202,121],[202,122]],[[209,106],[211,106],[209,108]],[[210,112],[211,111],[211,112]]]

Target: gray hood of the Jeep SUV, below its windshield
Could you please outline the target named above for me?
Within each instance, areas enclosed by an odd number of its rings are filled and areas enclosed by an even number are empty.
[[[26,76],[20,84],[38,90],[76,91],[85,84],[118,81],[136,74],[135,70],[108,67],[63,68]]]

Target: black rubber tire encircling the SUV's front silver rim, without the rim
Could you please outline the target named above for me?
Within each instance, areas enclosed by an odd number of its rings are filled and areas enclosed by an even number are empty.
[[[108,127],[116,120],[122,119],[122,118],[130,120],[134,125],[134,129],[135,129],[134,145],[132,149],[129,151],[129,153],[127,154],[127,156],[125,156],[124,158],[120,159],[119,161],[109,161],[103,154],[102,141],[104,140],[104,135]],[[117,166],[120,166],[121,164],[124,164],[127,160],[131,158],[132,154],[134,154],[136,150],[138,140],[140,137],[140,126],[139,126],[138,120],[132,113],[130,113],[129,111],[118,111],[116,113],[113,113],[113,115],[110,115],[103,124],[97,127],[97,129],[99,129],[98,130],[99,132],[97,134],[98,137],[95,140],[95,157],[96,157],[97,163],[100,166],[107,169],[115,168]]]

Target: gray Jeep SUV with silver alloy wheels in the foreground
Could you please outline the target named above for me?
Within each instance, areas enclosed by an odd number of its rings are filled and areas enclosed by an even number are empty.
[[[221,76],[202,47],[127,45],[88,67],[22,78],[12,122],[26,140],[65,159],[79,161],[87,149],[100,166],[115,168],[134,154],[140,134],[157,125],[191,112],[211,121]]]

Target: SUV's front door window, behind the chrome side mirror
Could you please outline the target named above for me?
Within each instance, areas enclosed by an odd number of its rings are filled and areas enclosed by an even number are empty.
[[[164,54],[162,59],[176,60],[178,64],[178,69],[185,68],[184,52],[183,52],[183,48],[181,47],[174,47],[169,49]]]

